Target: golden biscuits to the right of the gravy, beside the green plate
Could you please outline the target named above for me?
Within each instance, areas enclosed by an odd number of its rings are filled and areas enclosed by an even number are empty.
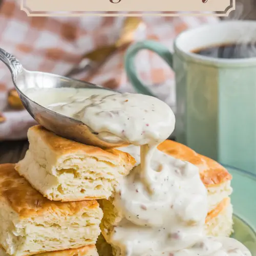
[[[233,208],[230,202],[232,176],[227,169],[216,161],[199,155],[191,148],[175,141],[164,141],[160,144],[159,150],[198,166],[201,180],[208,191],[206,234],[214,237],[229,237],[233,231]]]

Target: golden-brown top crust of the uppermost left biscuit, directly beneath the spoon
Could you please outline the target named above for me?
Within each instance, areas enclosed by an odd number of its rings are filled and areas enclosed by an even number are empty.
[[[100,147],[89,146],[73,140],[62,138],[46,130],[41,125],[32,126],[28,131],[28,137],[32,136],[32,133],[44,140],[44,142],[47,143],[57,155],[79,153],[79,151],[81,151],[88,156],[104,157],[110,161],[124,161],[126,164],[130,164],[132,166],[136,163],[135,159],[127,153],[115,150],[114,148],[102,150]]]

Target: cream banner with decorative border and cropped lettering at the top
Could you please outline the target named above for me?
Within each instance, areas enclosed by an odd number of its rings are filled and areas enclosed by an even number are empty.
[[[164,16],[214,12],[218,16],[227,16],[234,10],[234,2],[235,0],[22,0],[21,9],[29,16],[134,16],[141,15],[142,12],[143,15]]]

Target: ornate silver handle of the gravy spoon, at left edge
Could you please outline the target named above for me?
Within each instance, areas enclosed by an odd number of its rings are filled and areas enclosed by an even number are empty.
[[[16,76],[23,70],[20,62],[10,53],[0,48],[0,60],[9,68],[12,74],[12,80],[16,80]]]

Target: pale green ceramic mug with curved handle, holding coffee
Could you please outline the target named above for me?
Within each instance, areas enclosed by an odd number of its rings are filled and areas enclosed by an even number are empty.
[[[137,42],[127,50],[125,69],[138,93],[154,96],[137,77],[134,58],[142,49],[161,56],[176,75],[177,140],[221,163],[256,173],[256,57],[224,59],[193,53],[253,41],[256,22],[205,25],[178,35],[174,53],[156,41]]]

